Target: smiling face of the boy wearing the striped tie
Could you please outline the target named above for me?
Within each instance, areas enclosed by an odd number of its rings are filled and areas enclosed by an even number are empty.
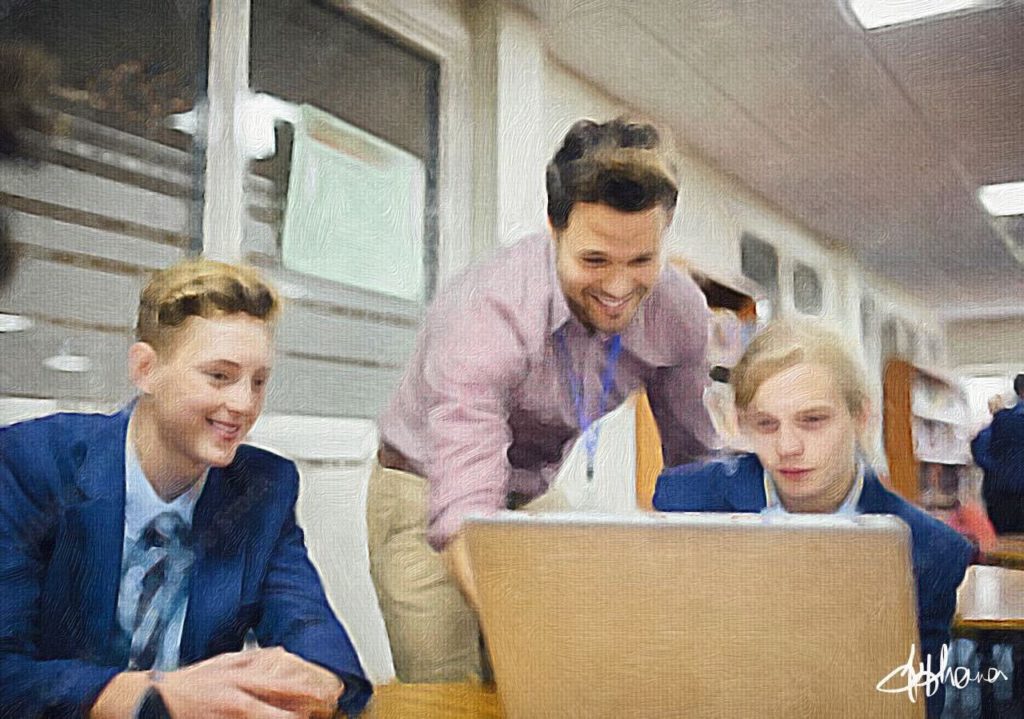
[[[230,464],[263,409],[273,353],[267,324],[245,313],[194,316],[163,352],[132,349],[133,378],[165,447],[197,467]]]

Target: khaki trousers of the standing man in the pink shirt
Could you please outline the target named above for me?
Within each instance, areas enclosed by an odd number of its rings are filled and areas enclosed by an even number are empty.
[[[480,627],[427,544],[427,481],[374,462],[367,495],[370,574],[403,682],[465,681],[481,674]]]

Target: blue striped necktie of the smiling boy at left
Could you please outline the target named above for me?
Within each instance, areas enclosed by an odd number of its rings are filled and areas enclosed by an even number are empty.
[[[132,626],[129,670],[153,668],[167,625],[188,594],[193,562],[188,535],[188,525],[177,512],[163,512],[139,538],[145,573]]]

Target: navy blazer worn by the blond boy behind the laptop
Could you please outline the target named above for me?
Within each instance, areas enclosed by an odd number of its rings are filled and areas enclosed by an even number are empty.
[[[668,512],[760,512],[766,506],[764,469],[756,455],[673,467],[658,477],[653,504],[654,509]],[[889,492],[870,471],[865,472],[857,510],[894,514],[910,527],[922,651],[932,654],[932,670],[938,671],[939,652],[949,642],[956,588],[974,557],[973,546],[946,524]],[[941,691],[929,697],[929,716],[941,714],[943,697]]]

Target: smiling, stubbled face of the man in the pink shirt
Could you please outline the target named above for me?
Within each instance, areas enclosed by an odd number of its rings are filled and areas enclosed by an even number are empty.
[[[665,208],[621,212],[577,203],[555,240],[558,281],[584,325],[621,332],[637,313],[662,270]]]

